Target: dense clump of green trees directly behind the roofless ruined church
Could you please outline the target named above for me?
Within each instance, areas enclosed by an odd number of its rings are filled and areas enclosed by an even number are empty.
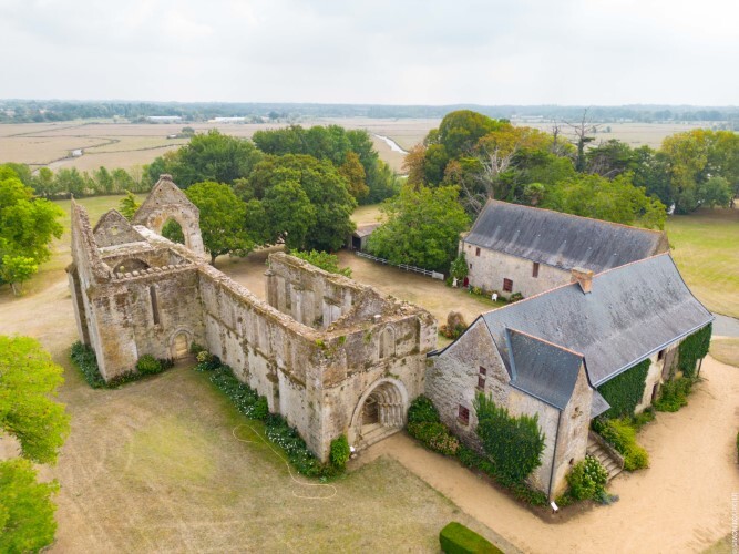
[[[294,250],[336,250],[355,228],[359,202],[398,191],[367,132],[339,126],[260,131],[254,142],[213,130],[146,172],[150,181],[171,174],[199,208],[212,261],[278,242]],[[177,229],[166,230],[176,238]]]

